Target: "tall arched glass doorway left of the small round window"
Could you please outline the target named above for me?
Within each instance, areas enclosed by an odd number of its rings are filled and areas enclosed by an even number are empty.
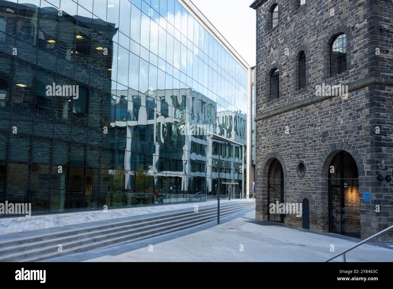
[[[279,160],[274,159],[268,171],[268,221],[284,223],[283,214],[270,214],[270,204],[284,202],[284,171]],[[278,210],[278,208],[277,208]]]

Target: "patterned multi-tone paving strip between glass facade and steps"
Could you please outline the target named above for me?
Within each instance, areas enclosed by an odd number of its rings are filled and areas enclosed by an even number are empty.
[[[240,200],[233,200],[240,201]],[[225,204],[226,202],[233,202],[227,200],[221,200],[220,203]],[[250,200],[243,200],[250,201]],[[252,200],[251,200],[252,201]],[[51,215],[33,215],[30,217],[12,217],[12,218],[1,218],[0,219],[0,235],[39,230],[44,228],[53,228],[59,226],[76,225],[88,222],[102,221],[108,219],[123,218],[136,215],[152,214],[159,212],[167,212],[172,210],[181,210],[186,208],[193,208],[195,205],[198,206],[209,206],[217,204],[217,201],[207,202],[192,202],[183,204],[169,204],[160,206],[145,206],[145,207],[134,207],[134,208],[120,208],[89,212],[68,212],[62,214],[51,214]]]

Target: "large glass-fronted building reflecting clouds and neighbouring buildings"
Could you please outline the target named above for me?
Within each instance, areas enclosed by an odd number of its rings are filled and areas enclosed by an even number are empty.
[[[248,67],[197,15],[181,0],[1,0],[0,202],[240,197]]]

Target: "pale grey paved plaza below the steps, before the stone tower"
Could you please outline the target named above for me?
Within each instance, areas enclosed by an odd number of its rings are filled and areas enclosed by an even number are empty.
[[[324,261],[359,240],[256,221],[252,208],[204,225],[134,243],[45,261]],[[334,245],[334,252],[331,247]],[[243,250],[241,250],[243,248]],[[334,261],[342,261],[337,258]],[[347,262],[393,261],[393,244],[367,243]]]

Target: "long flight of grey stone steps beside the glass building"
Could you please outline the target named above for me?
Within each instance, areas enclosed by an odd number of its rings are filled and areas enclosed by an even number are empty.
[[[236,202],[220,206],[220,218],[255,208],[255,202]],[[0,261],[39,261],[100,247],[131,243],[163,234],[191,228],[217,220],[217,206],[95,225],[75,230],[0,241]],[[71,226],[70,226],[71,227]],[[1,238],[0,238],[1,240]],[[59,245],[62,251],[59,252]]]

